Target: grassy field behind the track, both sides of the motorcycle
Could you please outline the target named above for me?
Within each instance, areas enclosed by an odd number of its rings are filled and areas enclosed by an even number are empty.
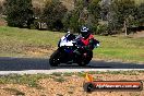
[[[27,48],[50,49],[57,47],[64,33],[0,26],[0,56],[25,56]],[[144,38],[95,36],[100,47],[94,49],[94,58],[144,62]],[[47,55],[46,55],[47,56]]]

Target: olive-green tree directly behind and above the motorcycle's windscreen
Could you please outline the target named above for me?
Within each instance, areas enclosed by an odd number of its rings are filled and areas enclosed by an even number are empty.
[[[84,9],[83,0],[74,1],[74,9],[69,11],[63,19],[64,29],[72,29],[73,33],[79,33],[80,27],[84,23],[82,21],[82,14]]]

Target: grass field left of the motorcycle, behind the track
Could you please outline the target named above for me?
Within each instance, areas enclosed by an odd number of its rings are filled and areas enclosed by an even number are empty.
[[[62,35],[48,31],[0,27],[0,56],[22,56],[27,48],[49,49],[57,46]]]

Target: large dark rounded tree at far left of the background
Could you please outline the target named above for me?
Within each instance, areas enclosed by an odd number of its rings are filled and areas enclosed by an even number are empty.
[[[4,5],[9,26],[29,27],[33,17],[32,0],[5,0]]]

